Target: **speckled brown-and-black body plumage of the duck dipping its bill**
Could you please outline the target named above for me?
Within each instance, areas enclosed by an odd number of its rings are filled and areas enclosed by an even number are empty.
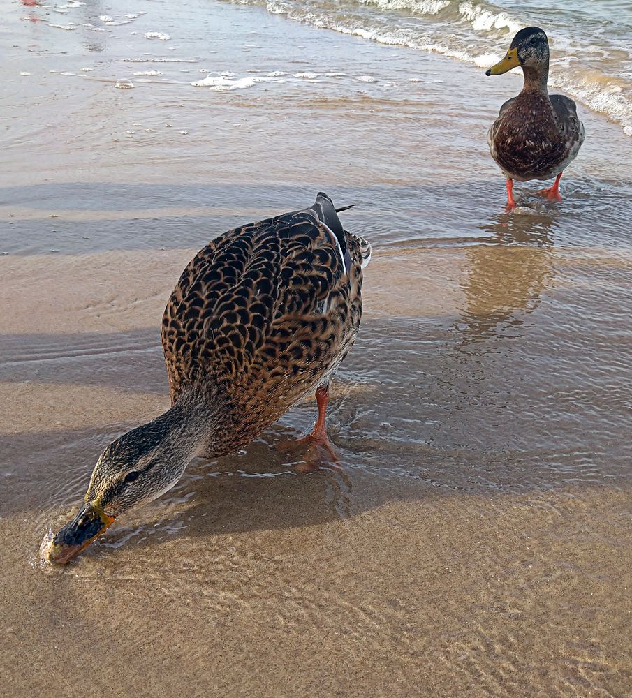
[[[161,341],[172,404],[193,393],[216,405],[207,454],[249,443],[328,384],[358,334],[369,252],[319,194],[314,207],[229,230],[189,262]]]

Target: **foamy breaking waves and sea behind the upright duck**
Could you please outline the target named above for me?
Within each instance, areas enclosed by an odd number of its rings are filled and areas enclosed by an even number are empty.
[[[549,38],[549,84],[632,135],[632,5],[626,0],[230,1],[481,68],[499,61],[522,27],[537,25]]]

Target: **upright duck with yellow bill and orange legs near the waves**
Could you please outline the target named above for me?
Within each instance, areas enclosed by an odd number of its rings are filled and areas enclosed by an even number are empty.
[[[487,134],[492,158],[507,178],[508,204],[512,208],[514,179],[555,177],[553,186],[540,193],[560,201],[559,178],[584,142],[584,126],[575,102],[548,93],[549,43],[542,29],[520,29],[504,59],[485,75],[502,75],[517,66],[522,66],[524,74],[522,92],[500,107]]]

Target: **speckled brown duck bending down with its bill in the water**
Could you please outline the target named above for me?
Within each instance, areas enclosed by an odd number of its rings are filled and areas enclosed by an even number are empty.
[[[309,438],[328,443],[329,386],[358,334],[370,253],[323,193],[198,252],[163,315],[171,407],[103,451],[48,560],[68,562],[120,514],[173,487],[193,456],[235,452],[312,390]]]

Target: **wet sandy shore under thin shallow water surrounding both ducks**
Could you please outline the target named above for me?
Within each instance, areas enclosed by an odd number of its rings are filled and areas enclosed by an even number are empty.
[[[485,133],[512,75],[207,0],[2,7],[12,695],[629,695],[620,125],[580,103],[564,200],[517,185],[508,214]],[[191,256],[320,190],[374,245],[341,468],[284,447],[308,399],[42,565],[98,454],[168,406],[159,321]]]

